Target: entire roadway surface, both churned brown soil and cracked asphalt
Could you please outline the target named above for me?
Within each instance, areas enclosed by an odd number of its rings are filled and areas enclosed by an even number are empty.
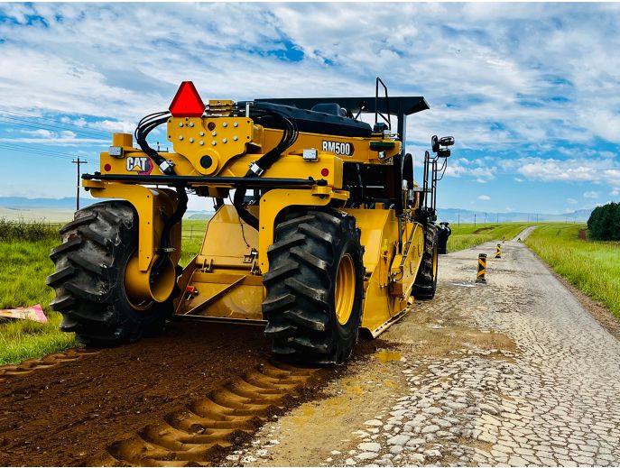
[[[335,370],[270,363],[260,328],[181,323],[7,378],[0,465],[620,463],[620,344],[502,247],[442,256],[437,297]]]

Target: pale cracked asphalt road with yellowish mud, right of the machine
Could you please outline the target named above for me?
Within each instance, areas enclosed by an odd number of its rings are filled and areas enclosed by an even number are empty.
[[[620,464],[618,340],[523,243],[494,257],[495,243],[442,256],[437,297],[382,335],[396,359],[354,363],[230,463]]]

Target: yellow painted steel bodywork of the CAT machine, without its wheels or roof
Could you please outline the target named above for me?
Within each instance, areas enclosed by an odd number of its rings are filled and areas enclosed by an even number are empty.
[[[226,115],[171,117],[167,130],[175,152],[162,152],[162,156],[173,163],[177,174],[197,178],[189,181],[188,187],[210,197],[227,197],[234,185],[222,178],[242,178],[248,166],[272,149],[282,136],[281,130],[254,124],[249,117]],[[352,154],[324,151],[326,141],[332,149],[353,149],[349,151]],[[309,149],[316,150],[313,161],[302,158],[303,151]],[[401,142],[383,133],[371,138],[300,133],[263,179],[296,175],[312,183],[307,187],[266,191],[258,206],[250,207],[259,219],[258,231],[246,225],[233,206],[219,207],[208,222],[201,251],[177,281],[181,295],[175,300],[175,313],[262,323],[261,304],[265,296],[262,276],[269,271],[267,250],[273,243],[278,216],[291,206],[326,206],[355,216],[356,226],[361,229],[366,268],[362,326],[374,336],[380,334],[411,301],[412,284],[424,248],[423,228],[413,221],[416,206],[406,208],[400,218],[381,203],[373,209],[344,209],[349,193],[343,189],[343,161],[391,165],[393,156],[401,150]],[[163,175],[143,151],[134,149],[132,135],[116,133],[110,151],[101,153],[100,173],[131,177],[136,171],[148,172],[151,177]],[[127,200],[138,214],[140,247],[136,259],[128,266],[130,276],[125,280],[128,294],[158,302],[168,298],[174,280],[168,277],[164,284],[153,286],[149,278],[158,255],[161,214],[170,216],[173,211],[177,202],[174,192],[135,185],[121,178],[84,180],[83,186],[93,197]],[[173,271],[180,258],[180,224],[172,232],[171,243]]]

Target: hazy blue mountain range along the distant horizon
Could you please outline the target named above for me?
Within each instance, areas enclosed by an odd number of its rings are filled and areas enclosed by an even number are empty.
[[[99,200],[92,198],[80,199],[80,206],[89,206]],[[28,209],[73,209],[75,198],[25,198],[25,197],[0,197],[0,207],[5,210],[28,210]],[[594,208],[592,208],[594,209]],[[511,222],[535,222],[535,221],[577,221],[586,222],[592,209],[580,209],[563,215],[550,215],[544,213],[495,213],[491,211],[472,211],[458,208],[439,208],[438,219],[449,223],[511,223]],[[188,211],[186,218],[208,219],[212,216],[211,211]]]

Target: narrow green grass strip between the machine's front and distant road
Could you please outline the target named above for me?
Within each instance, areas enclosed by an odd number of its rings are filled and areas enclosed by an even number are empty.
[[[509,241],[532,223],[502,223],[456,225],[450,224],[452,234],[448,239],[448,252],[456,252],[489,241]]]

